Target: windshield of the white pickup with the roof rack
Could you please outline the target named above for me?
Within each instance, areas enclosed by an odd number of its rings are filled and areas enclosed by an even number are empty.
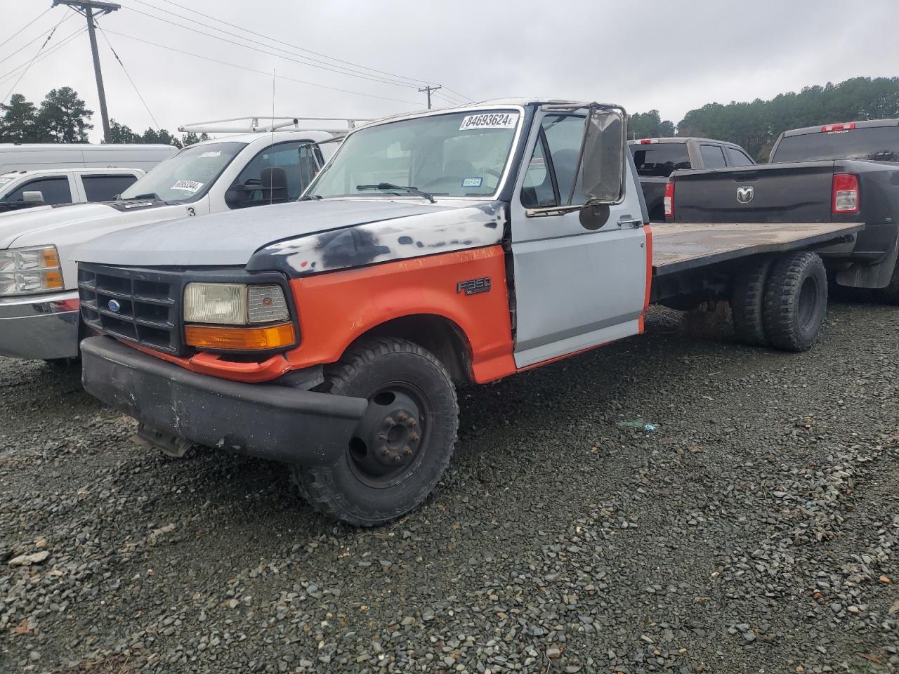
[[[193,201],[209,190],[245,143],[209,143],[185,147],[121,193],[121,199]]]

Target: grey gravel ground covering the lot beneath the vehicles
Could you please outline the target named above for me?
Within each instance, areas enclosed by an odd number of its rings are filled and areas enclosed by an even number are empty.
[[[801,355],[648,332],[463,391],[378,530],[0,359],[0,672],[895,672],[899,312]]]

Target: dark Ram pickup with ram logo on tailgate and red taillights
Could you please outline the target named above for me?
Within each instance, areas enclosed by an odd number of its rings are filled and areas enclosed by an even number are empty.
[[[785,131],[770,164],[672,173],[665,203],[668,222],[865,223],[819,253],[837,284],[899,304],[899,120]]]

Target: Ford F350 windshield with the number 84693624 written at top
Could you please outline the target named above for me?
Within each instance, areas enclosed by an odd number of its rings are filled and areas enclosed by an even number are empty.
[[[452,112],[352,133],[307,196],[487,197],[503,179],[519,111]],[[393,187],[391,187],[393,186]]]

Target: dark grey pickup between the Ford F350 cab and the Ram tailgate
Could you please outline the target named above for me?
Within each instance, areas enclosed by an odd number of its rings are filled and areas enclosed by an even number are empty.
[[[665,221],[665,184],[672,171],[755,164],[743,147],[709,138],[641,138],[628,141],[628,146],[653,222]]]

